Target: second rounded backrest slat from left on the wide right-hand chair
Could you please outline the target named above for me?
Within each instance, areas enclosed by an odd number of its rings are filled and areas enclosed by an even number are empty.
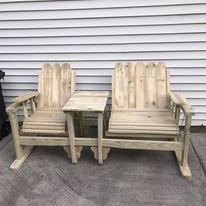
[[[133,63],[128,63],[129,67],[129,108],[135,108],[136,95],[135,95],[135,68]]]

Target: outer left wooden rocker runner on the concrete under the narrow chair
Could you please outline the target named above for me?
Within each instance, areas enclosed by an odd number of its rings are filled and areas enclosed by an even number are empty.
[[[21,146],[18,146],[21,147]],[[10,165],[10,169],[12,170],[18,170],[21,165],[24,163],[24,161],[26,160],[26,158],[30,155],[30,153],[32,152],[33,146],[25,146],[24,149],[20,149],[18,148],[18,150],[22,150],[22,154],[21,156],[17,155],[17,158],[14,160],[14,162]],[[16,147],[16,151],[17,151],[17,147]]]

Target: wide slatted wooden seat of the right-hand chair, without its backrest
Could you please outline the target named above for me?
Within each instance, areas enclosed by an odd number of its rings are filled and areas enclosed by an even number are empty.
[[[108,134],[179,135],[179,127],[170,110],[111,112]]]

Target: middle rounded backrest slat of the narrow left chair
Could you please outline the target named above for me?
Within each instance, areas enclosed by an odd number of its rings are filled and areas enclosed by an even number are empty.
[[[60,78],[61,78],[61,67],[59,64],[53,65],[53,79],[52,79],[52,106],[60,106]]]

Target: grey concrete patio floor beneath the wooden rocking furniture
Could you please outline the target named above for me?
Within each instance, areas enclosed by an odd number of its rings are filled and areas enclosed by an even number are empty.
[[[11,137],[0,142],[0,205],[206,205],[206,133],[192,133],[192,180],[171,152],[113,149],[99,166],[89,149],[72,165],[61,147],[36,147],[18,172]]]

